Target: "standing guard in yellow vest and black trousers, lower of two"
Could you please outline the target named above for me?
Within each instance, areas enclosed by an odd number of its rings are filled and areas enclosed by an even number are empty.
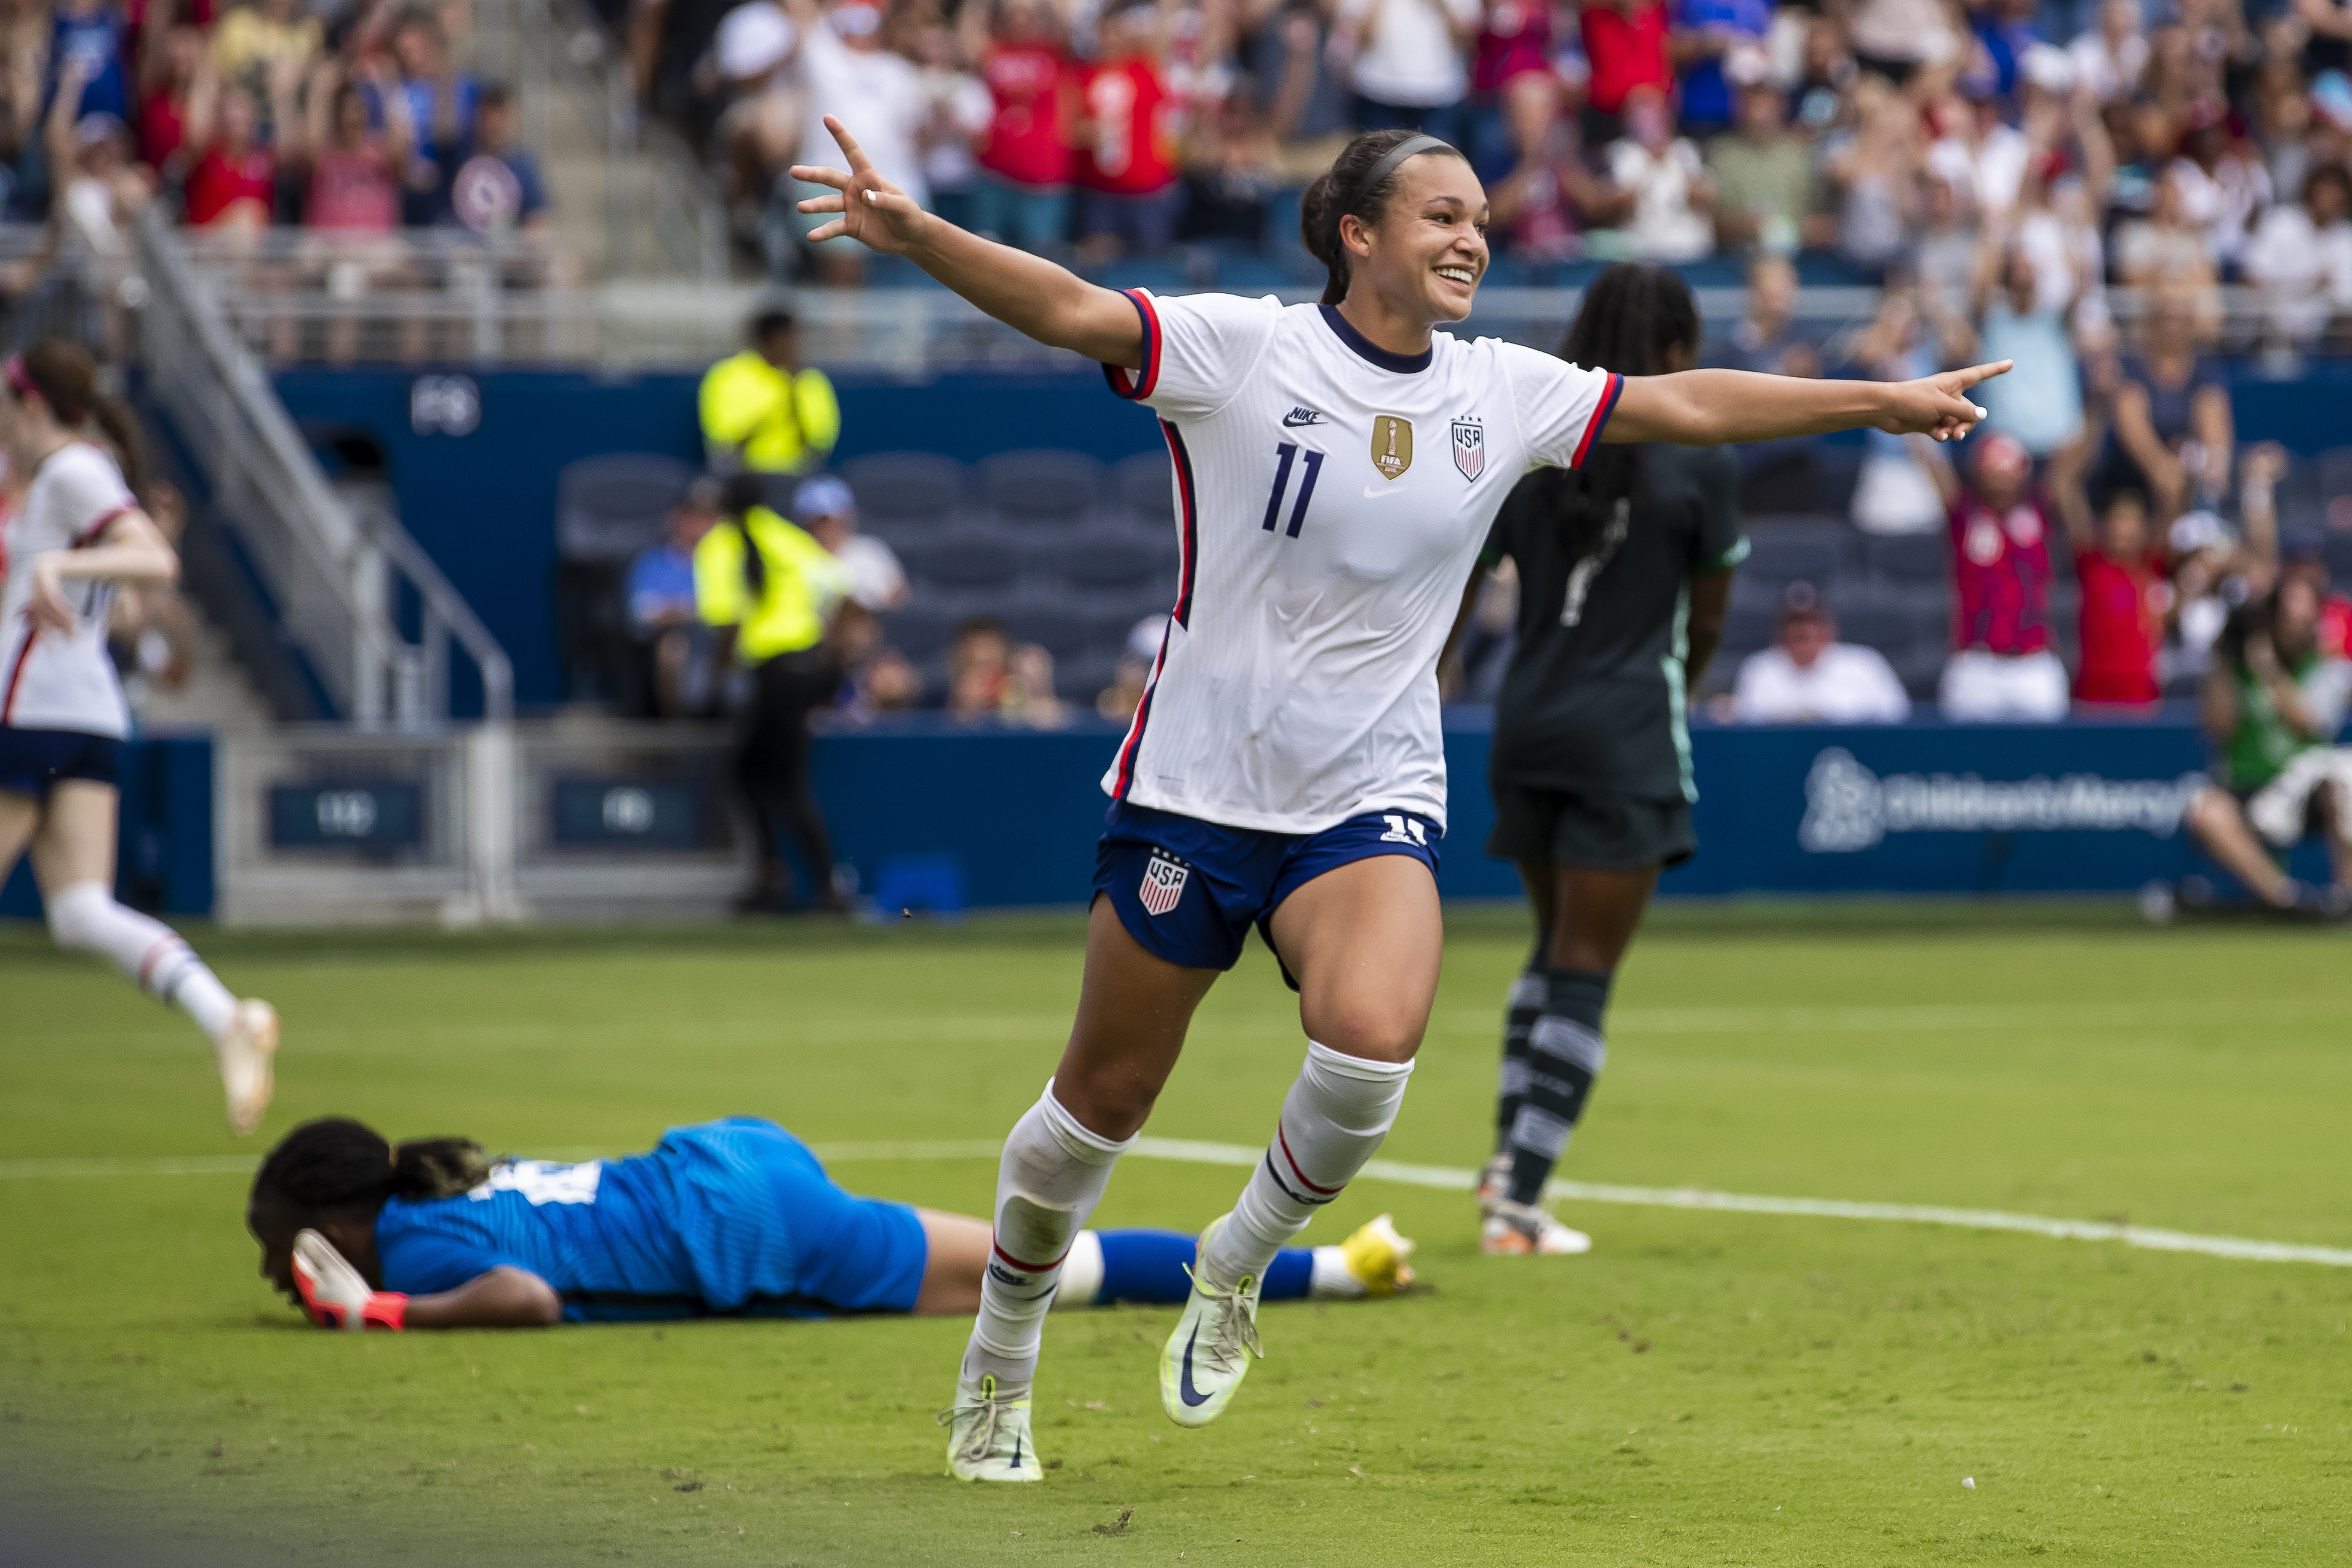
[[[736,738],[736,783],[760,837],[760,872],[741,910],[816,905],[840,912],[833,839],[809,788],[809,715],[833,701],[840,663],[828,642],[849,571],[814,538],[760,503],[764,480],[736,475],[722,520],[694,545],[694,607],[717,628],[734,663],[750,672]],[[793,898],[783,867],[790,835],[809,872],[809,898]]]

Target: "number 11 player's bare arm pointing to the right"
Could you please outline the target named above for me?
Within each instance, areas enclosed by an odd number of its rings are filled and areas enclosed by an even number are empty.
[[[1602,440],[1722,447],[1875,428],[1950,442],[1985,416],[1969,388],[2006,369],[2009,360],[1999,360],[1919,381],[1809,381],[1738,369],[1625,376]]]

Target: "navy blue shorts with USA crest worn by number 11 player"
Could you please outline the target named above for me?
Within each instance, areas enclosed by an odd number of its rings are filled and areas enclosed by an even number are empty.
[[[1275,952],[1272,914],[1324,872],[1414,856],[1437,875],[1446,830],[1411,811],[1367,811],[1322,832],[1223,827],[1195,816],[1112,802],[1094,846],[1094,891],[1110,898],[1127,936],[1185,969],[1232,969],[1249,926]],[[1275,952],[1275,959],[1282,954]],[[1284,969],[1282,978],[1298,990]]]

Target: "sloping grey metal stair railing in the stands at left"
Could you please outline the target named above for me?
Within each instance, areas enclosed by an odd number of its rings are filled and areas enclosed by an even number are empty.
[[[506,651],[423,548],[388,515],[360,515],[327,482],[261,362],[153,209],[134,230],[146,289],[139,357],[223,520],[261,574],[329,705],[360,726],[430,729],[449,717],[449,642],[482,677],[485,717],[510,722]],[[409,639],[407,585],[423,607]]]

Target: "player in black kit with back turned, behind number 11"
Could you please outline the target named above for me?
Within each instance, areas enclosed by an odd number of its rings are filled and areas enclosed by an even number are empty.
[[[1585,289],[1559,357],[1630,376],[1698,357],[1698,301],[1677,273],[1618,263]],[[1632,383],[1632,386],[1639,386]],[[1715,656],[1748,555],[1738,463],[1722,447],[1611,447],[1576,473],[1519,480],[1484,569],[1519,569],[1519,625],[1494,715],[1496,827],[1519,867],[1536,952],[1510,992],[1496,1154],[1479,1182],[1486,1253],[1581,1253],[1543,1182],[1602,1070],[1609,983],[1658,870],[1689,860],[1684,701]]]

